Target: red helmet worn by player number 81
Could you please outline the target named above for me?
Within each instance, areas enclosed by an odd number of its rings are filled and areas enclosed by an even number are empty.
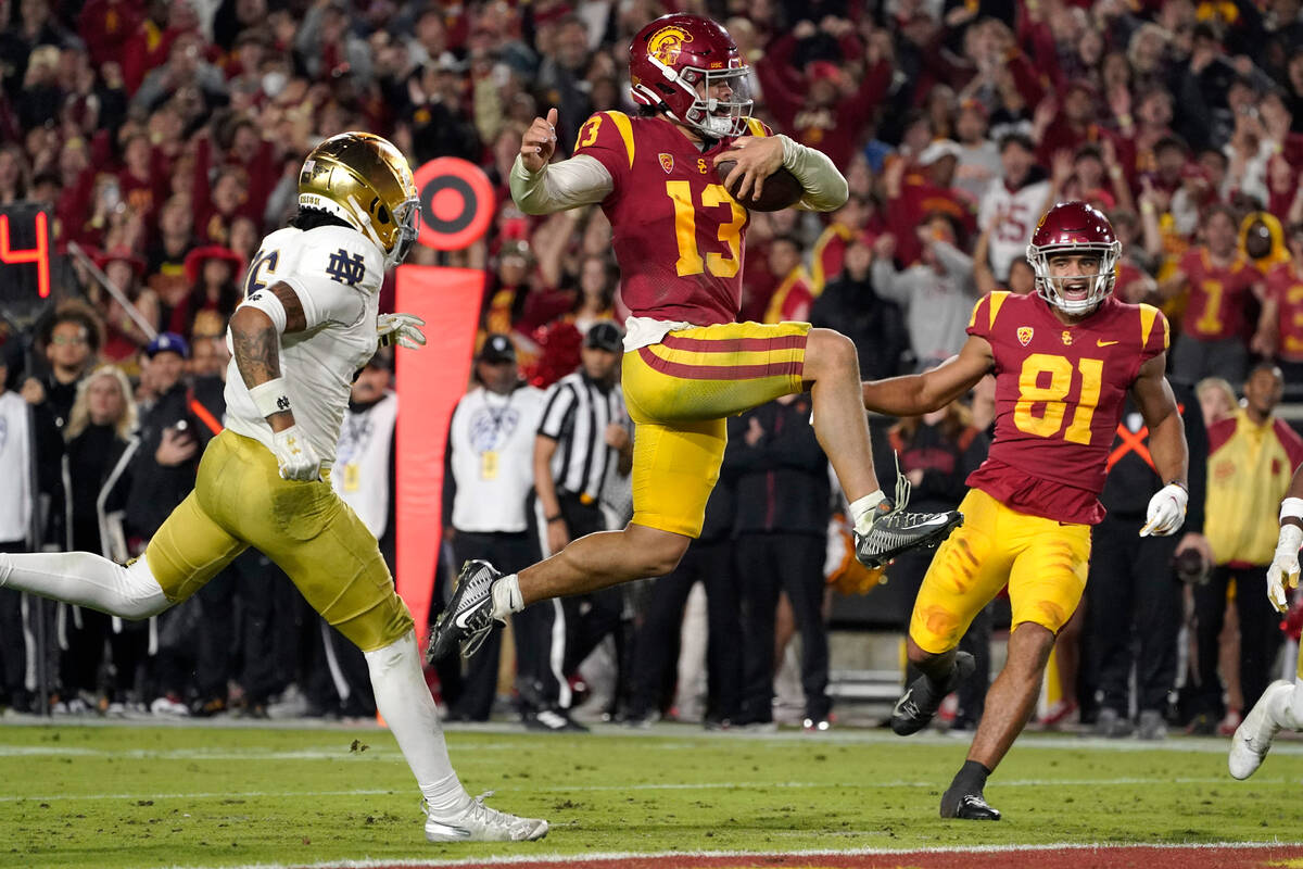
[[[1085,202],[1061,202],[1041,218],[1027,245],[1027,259],[1036,271],[1036,292],[1067,314],[1087,314],[1113,292],[1122,242],[1113,224]],[[1095,254],[1100,270],[1093,275],[1053,276],[1050,259],[1055,254]],[[1080,296],[1084,283],[1084,296]]]

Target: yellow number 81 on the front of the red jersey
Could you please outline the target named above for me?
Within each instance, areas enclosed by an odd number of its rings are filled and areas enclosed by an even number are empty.
[[[1104,361],[1078,360],[1076,370],[1081,373],[1081,395],[1072,412],[1072,421],[1063,431],[1063,439],[1088,444],[1091,420],[1100,404]],[[1050,382],[1048,386],[1040,386],[1045,374],[1050,375]],[[1049,353],[1032,353],[1027,357],[1018,375],[1018,403],[1014,405],[1014,425],[1019,431],[1040,438],[1053,438],[1059,433],[1063,427],[1063,416],[1067,413],[1063,399],[1072,388],[1072,362],[1067,357]]]

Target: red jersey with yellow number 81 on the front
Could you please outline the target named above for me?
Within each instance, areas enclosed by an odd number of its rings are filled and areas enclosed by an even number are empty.
[[[968,334],[995,360],[995,439],[968,476],[1020,513],[1095,525],[1113,435],[1140,366],[1167,349],[1157,307],[1108,296],[1065,326],[1037,294],[990,293]]]

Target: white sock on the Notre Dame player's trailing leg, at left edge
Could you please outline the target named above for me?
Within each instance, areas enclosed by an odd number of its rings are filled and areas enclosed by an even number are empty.
[[[172,606],[143,556],[122,567],[91,552],[0,552],[0,588],[122,619],[145,619]]]

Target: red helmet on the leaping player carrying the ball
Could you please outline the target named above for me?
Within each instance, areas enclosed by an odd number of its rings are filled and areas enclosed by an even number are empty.
[[[751,117],[751,68],[728,31],[701,16],[662,16],[629,43],[629,93],[641,106],[710,138],[741,135]],[[728,85],[727,99],[711,96]],[[702,91],[697,87],[705,85]]]

